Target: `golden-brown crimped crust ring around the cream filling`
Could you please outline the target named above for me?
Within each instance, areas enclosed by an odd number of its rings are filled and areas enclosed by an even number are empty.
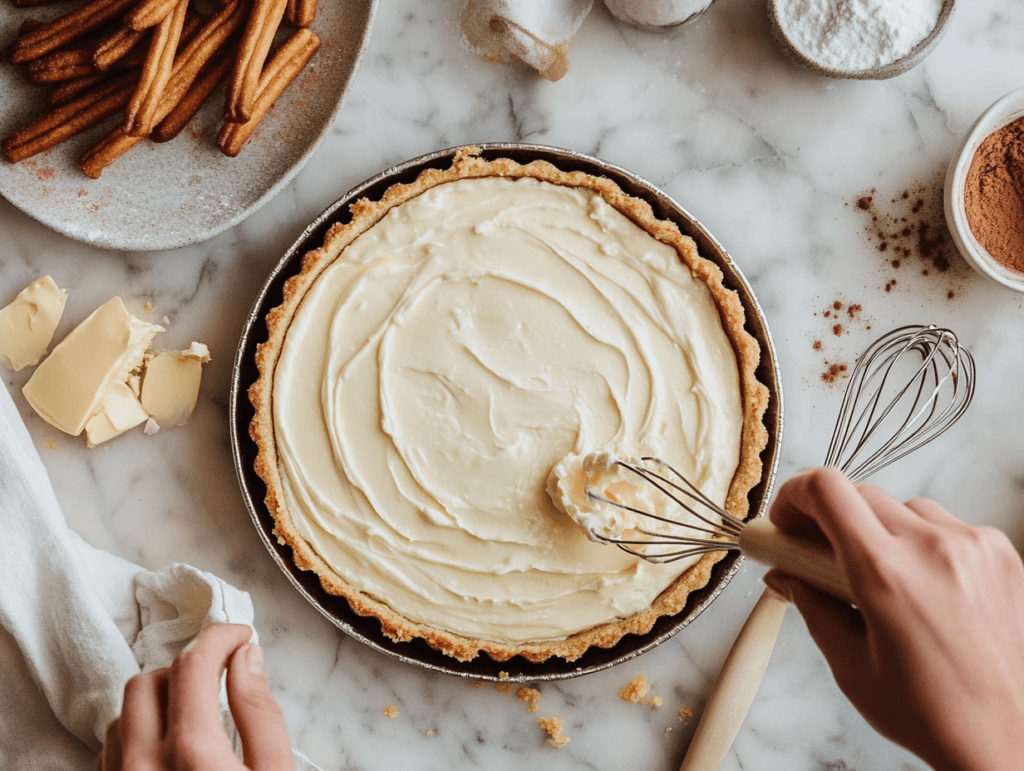
[[[409,184],[394,184],[378,202],[360,199],[351,204],[351,221],[332,226],[325,238],[324,246],[305,255],[300,272],[285,283],[282,304],[267,313],[268,339],[258,346],[256,352],[256,365],[260,374],[249,389],[249,398],[255,408],[250,435],[259,449],[255,470],[267,486],[266,506],[275,522],[274,536],[280,543],[292,548],[295,564],[301,569],[314,571],[319,576],[325,591],[345,597],[354,612],[377,617],[387,637],[396,641],[420,637],[430,647],[464,661],[475,658],[481,651],[499,661],[516,654],[531,661],[543,661],[550,656],[560,656],[571,661],[583,655],[590,647],[608,648],[617,643],[624,635],[646,634],[660,616],[678,613],[691,592],[707,586],[711,579],[712,567],[725,556],[725,553],[705,555],[696,565],[680,575],[663,592],[650,608],[628,618],[584,630],[564,640],[546,640],[521,645],[473,640],[411,622],[395,613],[384,603],[349,587],[298,534],[280,492],[282,484],[278,472],[272,419],[273,375],[289,324],[308,288],[348,244],[372,227],[392,207],[431,187],[456,179],[529,176],[555,184],[587,187],[598,192],[609,205],[659,241],[674,247],[680,259],[708,287],[736,352],[743,399],[740,457],[736,475],[729,488],[726,508],[739,517],[746,516],[748,494],[762,477],[761,452],[768,441],[763,417],[768,405],[769,392],[764,384],[758,382],[755,375],[761,355],[760,346],[743,328],[745,314],[742,304],[736,293],[723,285],[721,269],[715,263],[700,257],[693,241],[683,235],[675,223],[657,219],[646,202],[627,196],[609,179],[584,172],[563,172],[545,161],[535,161],[526,165],[505,158],[485,161],[479,158],[478,152],[477,147],[463,147],[456,154],[450,168],[427,169]]]

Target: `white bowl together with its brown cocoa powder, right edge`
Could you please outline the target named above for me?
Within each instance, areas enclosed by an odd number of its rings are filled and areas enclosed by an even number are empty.
[[[1024,292],[1024,88],[982,113],[946,172],[946,223],[978,272]]]

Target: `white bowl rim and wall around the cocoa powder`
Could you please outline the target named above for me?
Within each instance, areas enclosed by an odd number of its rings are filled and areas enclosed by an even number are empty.
[[[1011,91],[982,113],[949,163],[943,195],[946,225],[964,259],[982,275],[987,275],[992,281],[1017,292],[1024,292],[1024,273],[1010,270],[996,262],[975,238],[967,220],[964,186],[974,154],[978,152],[985,137],[1022,117],[1024,117],[1024,88]]]

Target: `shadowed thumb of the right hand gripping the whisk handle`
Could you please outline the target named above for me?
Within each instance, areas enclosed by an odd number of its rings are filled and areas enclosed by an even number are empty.
[[[865,671],[868,658],[867,636],[860,613],[842,600],[779,570],[769,570],[764,582],[796,605],[811,638],[828,661],[836,682],[849,694]]]

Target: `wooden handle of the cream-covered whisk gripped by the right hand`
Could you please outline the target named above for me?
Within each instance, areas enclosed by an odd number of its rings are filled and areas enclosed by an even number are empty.
[[[846,574],[825,546],[790,536],[767,519],[755,519],[743,525],[739,533],[739,551],[853,604]]]

